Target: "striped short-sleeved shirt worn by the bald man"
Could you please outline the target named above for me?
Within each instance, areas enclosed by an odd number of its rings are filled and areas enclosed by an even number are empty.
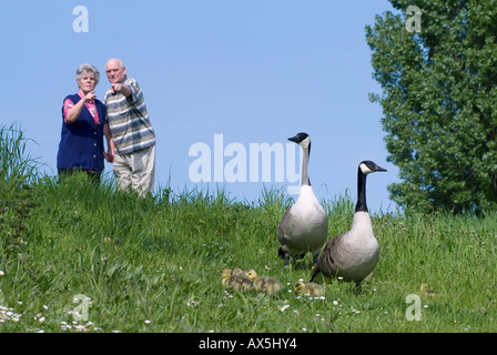
[[[134,79],[124,78],[131,94],[126,98],[120,92],[105,93],[105,123],[109,123],[112,139],[119,154],[129,154],[155,144],[155,133],[146,112],[143,92]]]

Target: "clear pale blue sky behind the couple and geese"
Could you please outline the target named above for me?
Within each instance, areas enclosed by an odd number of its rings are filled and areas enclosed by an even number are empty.
[[[88,9],[88,32],[73,30],[77,6]],[[368,178],[369,210],[394,211],[386,187],[398,181],[398,169],[386,162],[382,108],[368,100],[381,88],[365,41],[365,26],[387,10],[384,0],[2,2],[0,124],[20,125],[37,142],[31,155],[57,174],[60,111],[78,91],[78,65],[100,70],[103,99],[105,62],[120,58],[142,87],[155,129],[158,189],[169,181],[175,192],[217,185],[239,201],[256,201],[264,186],[295,183],[290,174],[276,182],[275,163],[270,182],[262,175],[250,182],[248,163],[247,182],[227,182],[223,171],[222,182],[193,182],[190,166],[201,154],[190,156],[192,145],[211,150],[212,170],[214,154],[225,169],[230,144],[248,162],[251,144],[286,146],[287,138],[307,132],[318,199],[345,191],[355,199],[357,164],[367,159],[388,170]],[[223,143],[214,152],[216,134]]]

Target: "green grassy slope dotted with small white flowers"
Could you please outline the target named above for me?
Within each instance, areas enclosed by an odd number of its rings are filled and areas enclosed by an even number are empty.
[[[22,146],[22,136],[13,140]],[[140,199],[85,175],[37,176],[18,153],[0,155],[2,164],[26,166],[0,171],[0,332],[496,329],[495,213],[372,214],[382,252],[363,293],[327,281],[324,300],[310,298],[291,291],[297,280],[308,281],[311,255],[288,268],[277,257],[276,227],[293,203],[282,191],[264,190],[256,202],[169,187]],[[323,205],[329,237],[349,229],[348,195]],[[275,276],[284,290],[271,297],[225,290],[225,266]],[[438,294],[423,294],[422,283]],[[410,294],[419,296],[420,321],[406,317]],[[74,303],[79,295],[88,301]]]

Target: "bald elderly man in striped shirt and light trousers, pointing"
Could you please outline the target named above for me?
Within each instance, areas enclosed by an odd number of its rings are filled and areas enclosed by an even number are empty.
[[[113,172],[118,185],[140,195],[153,193],[155,174],[155,133],[150,123],[142,90],[119,59],[106,62],[111,83],[103,99],[106,120],[115,145]]]

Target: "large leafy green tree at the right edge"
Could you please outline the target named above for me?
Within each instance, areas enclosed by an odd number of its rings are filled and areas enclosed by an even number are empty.
[[[384,112],[388,186],[406,209],[497,207],[497,1],[398,0],[366,27]],[[406,21],[422,10],[420,31]]]

